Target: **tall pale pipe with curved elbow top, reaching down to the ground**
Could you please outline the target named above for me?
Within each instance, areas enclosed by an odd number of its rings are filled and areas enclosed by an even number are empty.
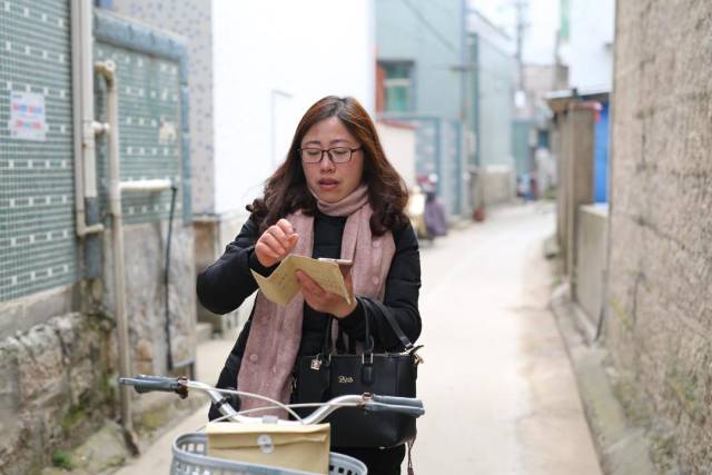
[[[113,249],[113,299],[119,353],[119,375],[131,374],[129,358],[129,331],[126,314],[126,271],[123,263],[123,217],[121,215],[121,185],[119,167],[119,92],[116,81],[116,63],[111,60],[97,62],[95,70],[107,82],[107,117],[109,120],[109,214],[111,215],[111,245]],[[119,388],[121,399],[121,425],[131,433],[131,393],[126,386]]]

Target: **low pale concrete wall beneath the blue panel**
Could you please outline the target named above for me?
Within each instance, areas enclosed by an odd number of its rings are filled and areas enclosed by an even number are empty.
[[[587,205],[578,208],[578,234],[576,236],[576,269],[573,297],[591,325],[595,326],[603,308],[603,283],[606,261],[606,224],[609,209],[605,205]]]

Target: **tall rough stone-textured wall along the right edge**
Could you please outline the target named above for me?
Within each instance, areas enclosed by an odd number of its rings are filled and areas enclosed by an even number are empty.
[[[606,345],[666,473],[712,472],[712,2],[619,0]]]

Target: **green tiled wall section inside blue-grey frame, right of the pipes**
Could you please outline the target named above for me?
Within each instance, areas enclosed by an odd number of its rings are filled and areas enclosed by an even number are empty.
[[[95,58],[111,59],[117,65],[121,180],[167,178],[180,186],[179,63],[106,42],[96,43]],[[96,83],[97,117],[106,121],[106,83],[103,80],[97,80]],[[97,146],[101,208],[108,210],[107,142],[100,139]],[[122,196],[126,224],[166,219],[169,209],[170,191]],[[181,199],[178,195],[176,217],[180,216],[180,210]]]

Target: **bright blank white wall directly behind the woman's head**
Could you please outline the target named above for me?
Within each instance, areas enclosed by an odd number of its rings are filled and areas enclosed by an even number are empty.
[[[373,0],[214,0],[216,212],[243,210],[306,109],[354,96],[373,113]]]

